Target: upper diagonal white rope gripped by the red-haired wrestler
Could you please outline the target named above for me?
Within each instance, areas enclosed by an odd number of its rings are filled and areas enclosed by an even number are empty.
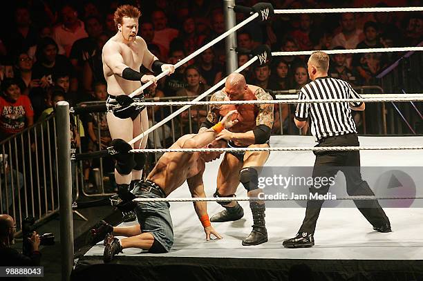
[[[250,21],[256,19],[256,17],[259,17],[259,13],[258,12],[252,14],[250,17],[248,17],[247,19],[241,21],[241,23],[238,23],[236,26],[234,26],[233,28],[231,28],[231,29],[227,30],[226,32],[222,33],[221,35],[219,35],[218,37],[216,37],[212,41],[209,41],[209,43],[205,44],[205,46],[199,48],[198,50],[196,50],[195,52],[193,52],[188,57],[185,57],[185,59],[182,59],[182,60],[178,61],[178,63],[175,64],[175,68],[178,68],[178,67],[182,66],[182,64],[187,63],[188,61],[190,61],[191,59],[193,59],[194,57],[196,57],[196,55],[200,54],[200,52],[203,52],[207,48],[210,48],[211,46],[213,46],[218,41],[220,41],[220,40],[224,39],[225,37],[227,37],[228,35],[230,35],[232,32],[235,32],[239,28],[242,28],[243,26],[245,26]],[[156,76],[156,80],[161,79],[162,77],[166,76],[168,73],[169,73],[168,70],[160,73],[159,75]],[[135,95],[138,95],[139,93],[141,93],[142,90],[144,90],[145,88],[148,88],[149,86],[151,86],[151,84],[153,84],[153,82],[152,81],[148,81],[146,84],[142,85],[137,90],[134,90],[133,93],[131,93],[129,95],[129,97],[135,97]]]

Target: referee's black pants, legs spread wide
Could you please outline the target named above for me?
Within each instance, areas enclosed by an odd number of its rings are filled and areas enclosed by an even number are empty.
[[[328,137],[323,139],[317,147],[321,146],[359,146],[355,133]],[[338,171],[342,171],[346,177],[347,193],[353,195],[375,195],[367,182],[361,179],[360,153],[359,151],[325,151],[315,152],[316,160],[313,168],[313,178],[335,177]],[[327,194],[329,184],[326,186],[310,187],[310,193]],[[373,226],[382,226],[389,223],[388,217],[377,200],[354,200],[359,211]],[[317,218],[319,217],[323,200],[308,200],[306,217],[299,230],[300,233],[314,233]]]

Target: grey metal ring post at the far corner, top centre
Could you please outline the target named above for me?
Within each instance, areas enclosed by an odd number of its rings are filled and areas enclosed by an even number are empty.
[[[225,15],[225,29],[229,30],[236,26],[236,17],[234,12],[235,0],[223,0],[223,12]],[[225,38],[226,47],[226,75],[231,74],[238,68],[238,59],[236,57],[236,31]]]

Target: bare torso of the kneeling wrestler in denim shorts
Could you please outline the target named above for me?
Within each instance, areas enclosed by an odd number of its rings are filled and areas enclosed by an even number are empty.
[[[185,135],[180,140],[192,136],[194,135]],[[173,144],[171,148],[180,148],[180,146]],[[200,153],[164,153],[147,176],[147,180],[158,184],[164,193],[169,195],[189,177],[203,173],[204,169],[205,161],[200,157]]]

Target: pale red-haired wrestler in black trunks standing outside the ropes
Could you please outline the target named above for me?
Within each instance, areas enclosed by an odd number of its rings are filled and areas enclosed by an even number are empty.
[[[136,36],[138,33],[138,19],[140,11],[130,5],[120,6],[114,14],[115,25],[118,29],[116,35],[106,42],[102,52],[104,77],[107,82],[106,101],[109,112],[107,123],[112,139],[131,141],[149,128],[147,110],[144,106],[131,106],[119,104],[116,97],[130,95],[140,88],[141,84],[154,81],[153,75],[142,75],[138,70],[140,66],[152,70],[156,75],[165,70],[169,74],[175,68],[171,64],[158,61],[148,49],[144,39]],[[144,95],[135,96],[134,101],[144,101]],[[121,106],[118,110],[111,111],[113,106]],[[147,136],[135,142],[134,148],[145,148]],[[128,189],[130,184],[136,184],[141,179],[142,167],[145,163],[143,154],[121,155],[116,157],[115,179],[118,189]],[[131,182],[131,180],[133,182]],[[124,213],[124,221],[135,220],[133,213]]]

